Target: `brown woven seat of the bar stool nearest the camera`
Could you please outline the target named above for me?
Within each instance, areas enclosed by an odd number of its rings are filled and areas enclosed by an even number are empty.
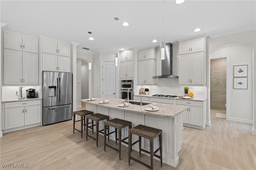
[[[144,125],[138,125],[129,129],[129,133],[152,140],[162,134],[162,130]]]

